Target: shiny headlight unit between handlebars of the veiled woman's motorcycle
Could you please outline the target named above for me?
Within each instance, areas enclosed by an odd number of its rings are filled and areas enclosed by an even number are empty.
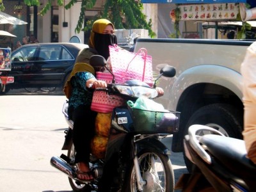
[[[157,90],[154,88],[143,87],[143,86],[123,86],[123,85],[116,85],[117,90],[124,94],[133,97],[147,97],[148,99],[153,99],[157,97],[158,93]]]

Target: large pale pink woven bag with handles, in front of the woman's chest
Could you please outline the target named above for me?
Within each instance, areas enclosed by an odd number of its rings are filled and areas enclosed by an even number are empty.
[[[109,46],[111,69],[115,76],[122,77],[122,82],[138,79],[152,86],[152,57],[147,55],[147,49],[129,52],[118,45]]]

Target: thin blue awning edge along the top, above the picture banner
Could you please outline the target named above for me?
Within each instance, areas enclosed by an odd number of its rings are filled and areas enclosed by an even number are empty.
[[[195,3],[246,3],[246,0],[141,0],[141,3],[175,3],[175,4],[195,4]]]

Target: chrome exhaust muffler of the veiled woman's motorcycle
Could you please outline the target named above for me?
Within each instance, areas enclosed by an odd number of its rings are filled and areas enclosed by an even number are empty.
[[[51,165],[60,170],[61,172],[67,174],[68,177],[76,180],[76,170],[60,157],[52,157]]]

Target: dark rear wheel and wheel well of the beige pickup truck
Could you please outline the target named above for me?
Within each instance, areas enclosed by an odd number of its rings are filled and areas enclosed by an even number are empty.
[[[243,138],[243,111],[239,111],[230,104],[210,104],[195,111],[189,118],[183,132],[183,138],[188,134],[189,126],[194,124],[207,125],[222,132],[225,136]],[[209,134],[209,132],[202,132],[201,134]],[[183,156],[188,171],[192,172],[193,163],[185,156],[184,150]]]

